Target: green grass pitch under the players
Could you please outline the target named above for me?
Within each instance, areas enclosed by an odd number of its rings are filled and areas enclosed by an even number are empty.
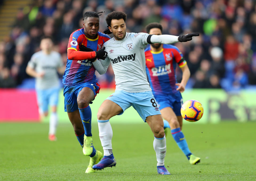
[[[0,180],[256,180],[255,122],[184,125],[190,150],[201,157],[198,165],[189,164],[169,132],[165,166],[171,175],[157,174],[154,137],[142,121],[112,124],[117,166],[92,174],[85,174],[89,157],[82,154],[71,124],[59,125],[56,142],[48,140],[48,126],[0,124]],[[92,128],[94,146],[103,151],[97,123]]]

